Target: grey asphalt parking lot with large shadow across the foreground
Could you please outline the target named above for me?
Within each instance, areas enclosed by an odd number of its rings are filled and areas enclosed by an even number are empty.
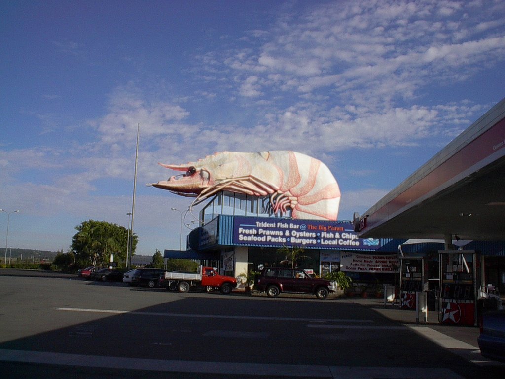
[[[0,271],[2,377],[498,378],[478,327],[381,299],[225,296]]]

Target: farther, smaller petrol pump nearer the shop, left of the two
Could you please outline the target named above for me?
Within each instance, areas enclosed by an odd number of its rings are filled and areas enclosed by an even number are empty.
[[[416,292],[428,290],[424,257],[399,257],[400,309],[416,309]]]

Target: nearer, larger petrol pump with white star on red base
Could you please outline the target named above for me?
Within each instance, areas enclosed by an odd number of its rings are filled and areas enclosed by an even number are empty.
[[[438,321],[475,325],[478,272],[474,250],[439,250],[440,298]]]

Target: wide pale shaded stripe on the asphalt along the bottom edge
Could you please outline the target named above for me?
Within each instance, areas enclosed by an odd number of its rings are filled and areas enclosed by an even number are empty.
[[[108,357],[98,355],[50,353],[41,351],[0,349],[0,361],[59,366],[118,368],[166,372],[268,375],[291,377],[327,377],[332,379],[463,379],[448,368],[432,367],[350,367],[304,364],[272,364],[242,362],[198,362],[162,359]]]

